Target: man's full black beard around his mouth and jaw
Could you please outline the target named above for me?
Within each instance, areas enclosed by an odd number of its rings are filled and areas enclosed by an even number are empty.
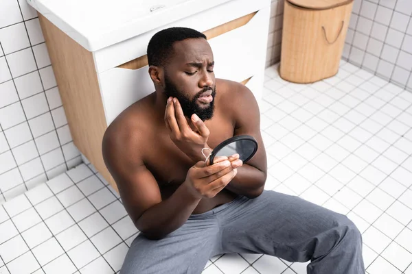
[[[209,107],[207,108],[201,108],[198,103],[197,99],[201,97],[203,92],[212,90],[211,92],[211,97],[213,97],[213,100],[209,103]],[[202,120],[206,121],[211,119],[214,114],[214,97],[216,96],[216,86],[214,88],[203,88],[198,94],[194,96],[192,100],[188,99],[183,95],[183,92],[181,90],[177,90],[176,86],[170,82],[169,77],[165,75],[165,95],[166,97],[176,97],[179,100],[179,103],[181,104],[183,114],[187,116],[188,118],[192,117],[192,114],[196,113],[196,115]]]

